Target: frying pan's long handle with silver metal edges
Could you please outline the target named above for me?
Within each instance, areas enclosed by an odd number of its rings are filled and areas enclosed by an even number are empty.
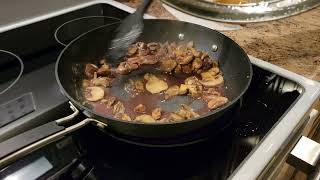
[[[73,114],[31,129],[0,143],[0,169],[47,144],[63,138],[65,135],[80,129],[89,123],[93,122],[99,127],[107,126],[105,123],[91,118],[86,118],[69,127],[61,126],[61,124],[69,122],[79,113],[72,103],[70,103],[70,107],[74,111]]]

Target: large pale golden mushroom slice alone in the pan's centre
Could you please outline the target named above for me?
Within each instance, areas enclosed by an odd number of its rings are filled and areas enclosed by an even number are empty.
[[[150,75],[146,83],[146,89],[150,93],[156,94],[168,89],[168,84],[164,80],[157,78],[155,75]]]

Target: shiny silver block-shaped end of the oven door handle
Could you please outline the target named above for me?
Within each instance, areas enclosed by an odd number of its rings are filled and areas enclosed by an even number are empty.
[[[320,144],[301,136],[290,152],[287,163],[308,175],[309,180],[320,179]]]

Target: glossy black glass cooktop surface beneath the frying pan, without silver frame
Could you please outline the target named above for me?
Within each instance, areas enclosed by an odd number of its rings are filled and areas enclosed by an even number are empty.
[[[0,95],[0,109],[9,113],[10,102],[21,105],[25,103],[21,97],[25,96],[32,96],[35,105],[22,116],[12,116],[5,122],[0,120],[0,142],[70,113],[67,99],[60,93],[54,76],[55,61],[64,48],[54,39],[55,29],[66,21],[84,16],[122,19],[126,15],[127,12],[113,6],[97,4],[0,34],[0,49],[17,54],[25,65],[18,83]],[[0,90],[13,81],[18,71],[16,62],[0,59]],[[219,133],[209,133],[211,136],[204,141],[181,147],[142,147],[119,141],[88,126],[70,136],[72,141],[68,142],[73,148],[65,150],[67,156],[73,158],[70,162],[62,155],[54,155],[63,148],[51,148],[51,144],[1,170],[0,177],[44,156],[52,166],[59,164],[64,171],[51,168],[40,179],[54,174],[53,179],[226,179],[301,93],[301,87],[295,82],[255,65],[253,71],[248,91],[228,117],[231,123]],[[14,126],[11,131],[1,133],[10,125]],[[73,165],[66,166],[70,163]],[[81,169],[80,165],[85,168]]]

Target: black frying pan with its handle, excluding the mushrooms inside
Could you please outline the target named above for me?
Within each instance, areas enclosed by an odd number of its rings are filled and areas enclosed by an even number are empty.
[[[90,122],[93,122],[98,127],[107,129],[111,133],[114,132],[125,136],[142,138],[172,138],[182,136],[215,123],[219,117],[227,113],[236,104],[247,90],[252,77],[252,66],[246,53],[230,38],[217,31],[180,21],[144,20],[144,24],[144,31],[139,41],[162,43],[165,41],[194,41],[197,49],[208,52],[210,57],[218,60],[220,69],[224,73],[225,94],[229,102],[223,107],[198,118],[163,124],[123,121],[99,114],[90,107],[83,105],[80,90],[81,82],[84,78],[84,65],[87,63],[97,63],[104,56],[108,40],[111,39],[112,32],[116,29],[118,23],[101,26],[73,40],[61,52],[56,63],[57,82],[62,93],[74,105],[71,105],[71,107],[75,113],[69,117],[51,122],[46,127],[47,129],[49,129],[48,127],[51,129],[54,127],[58,132],[53,132],[41,140],[35,138],[36,140],[28,143],[32,145],[28,145],[17,152],[13,152],[10,148],[9,150],[4,149],[3,153],[0,153],[0,158],[5,158],[0,160],[0,164],[10,162],[17,156],[22,156],[49,142],[55,141],[59,137],[75,131]],[[119,88],[118,90],[121,91]],[[176,104],[176,102],[173,102],[167,105],[173,107]],[[59,126],[76,116],[78,113],[77,109],[81,110],[88,118],[67,128]],[[41,129],[41,127],[38,128]],[[42,130],[42,132],[45,131]],[[4,145],[3,147],[5,148],[6,146]]]

